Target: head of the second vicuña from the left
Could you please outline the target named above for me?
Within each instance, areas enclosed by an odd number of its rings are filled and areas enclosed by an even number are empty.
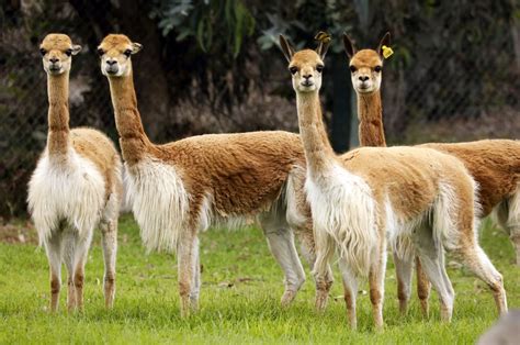
[[[98,47],[101,73],[106,77],[128,76],[132,73],[131,56],[142,48],[142,44],[132,42],[125,35],[108,35]]]

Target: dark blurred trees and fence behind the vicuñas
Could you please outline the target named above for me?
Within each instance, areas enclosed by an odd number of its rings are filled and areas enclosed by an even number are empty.
[[[133,57],[146,131],[157,143],[215,132],[297,131],[294,92],[278,48],[332,34],[325,120],[338,152],[355,145],[355,102],[342,52],[393,35],[384,116],[393,144],[518,137],[520,7],[517,0],[1,0],[0,215],[23,215],[26,183],[47,132],[38,44],[69,34],[83,51],[70,82],[71,125],[116,140],[95,47],[109,33],[144,45]]]

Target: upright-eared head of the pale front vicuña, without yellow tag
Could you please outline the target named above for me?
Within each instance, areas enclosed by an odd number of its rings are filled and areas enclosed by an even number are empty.
[[[283,35],[280,35],[280,46],[289,62],[289,70],[293,75],[293,88],[298,93],[319,91],[324,58],[329,43],[320,43],[316,51],[303,49],[294,53]]]

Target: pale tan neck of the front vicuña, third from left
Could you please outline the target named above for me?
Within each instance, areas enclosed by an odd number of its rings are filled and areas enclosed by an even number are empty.
[[[331,166],[336,155],[325,132],[318,92],[297,92],[296,102],[307,169],[316,176]]]

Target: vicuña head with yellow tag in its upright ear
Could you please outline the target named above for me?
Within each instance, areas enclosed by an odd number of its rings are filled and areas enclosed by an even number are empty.
[[[380,42],[377,49],[357,52],[347,34],[343,34],[343,45],[350,58],[352,86],[359,93],[377,92],[381,88],[381,71],[383,70],[384,46],[389,47],[391,35],[387,32]]]

